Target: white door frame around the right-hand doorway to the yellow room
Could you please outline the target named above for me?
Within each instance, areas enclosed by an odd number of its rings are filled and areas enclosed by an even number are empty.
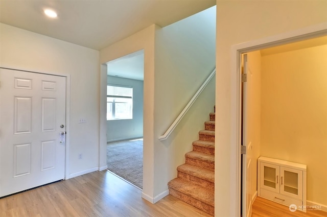
[[[241,216],[241,55],[296,41],[327,35],[327,23],[231,46],[230,214]],[[236,163],[235,163],[236,162]],[[234,181],[235,180],[235,181]],[[244,194],[245,192],[243,192]]]

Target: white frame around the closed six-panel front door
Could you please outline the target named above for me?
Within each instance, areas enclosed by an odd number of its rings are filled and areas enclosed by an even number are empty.
[[[50,76],[61,76],[66,78],[66,138],[65,138],[65,177],[64,179],[69,178],[69,141],[70,141],[70,111],[71,111],[71,76],[70,75],[64,75],[64,74],[53,74],[48,72],[39,72],[39,71],[30,71],[25,69],[17,69],[17,68],[9,68],[9,67],[0,67],[4,69],[11,69],[11,70],[17,70],[17,71],[25,71],[27,73],[37,73],[37,74],[43,74],[43,75],[50,75]],[[1,79],[1,78],[0,78]],[[1,109],[1,105],[0,105]],[[0,119],[1,122],[1,119]],[[1,144],[0,144],[1,145]]]

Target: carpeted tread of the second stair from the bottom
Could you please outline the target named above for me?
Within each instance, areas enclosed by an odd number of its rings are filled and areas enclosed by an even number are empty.
[[[189,174],[191,176],[198,177],[205,181],[215,182],[215,172],[206,170],[205,168],[201,168],[198,166],[190,165],[190,164],[182,164],[177,167],[177,171]]]

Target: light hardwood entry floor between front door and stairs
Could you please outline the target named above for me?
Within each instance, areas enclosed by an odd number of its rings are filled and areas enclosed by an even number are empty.
[[[156,204],[115,175],[94,172],[0,199],[0,216],[211,216],[172,196]]]

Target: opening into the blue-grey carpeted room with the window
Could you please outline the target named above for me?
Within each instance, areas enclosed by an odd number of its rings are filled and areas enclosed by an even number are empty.
[[[144,50],[107,62],[107,166],[143,189]]]

